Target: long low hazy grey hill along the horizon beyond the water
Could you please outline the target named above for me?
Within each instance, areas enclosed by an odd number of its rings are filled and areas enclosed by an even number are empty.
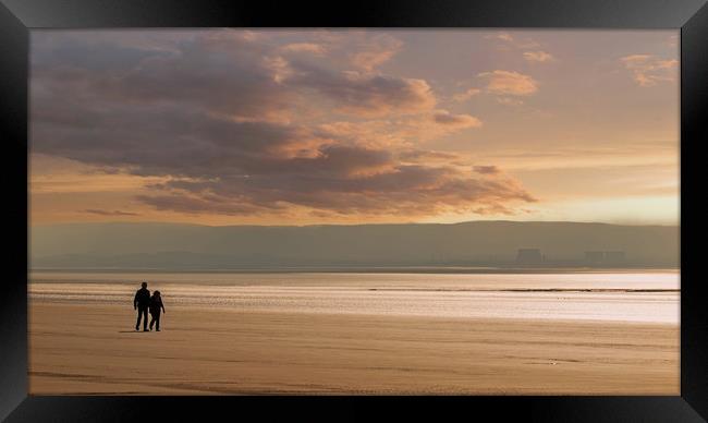
[[[471,221],[354,226],[66,223],[30,228],[32,268],[239,269],[317,266],[587,265],[586,252],[622,252],[608,266],[675,267],[679,228],[581,222]],[[533,255],[533,254],[532,254]],[[595,263],[603,266],[602,263]]]

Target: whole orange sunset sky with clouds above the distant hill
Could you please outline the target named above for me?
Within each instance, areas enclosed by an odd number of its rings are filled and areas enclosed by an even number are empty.
[[[30,225],[679,223],[679,32],[30,33]]]

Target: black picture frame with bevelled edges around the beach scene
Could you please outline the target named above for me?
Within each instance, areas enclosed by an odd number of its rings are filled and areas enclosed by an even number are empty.
[[[681,395],[675,397],[44,397],[27,395],[27,85],[33,28],[98,27],[523,27],[681,28]],[[551,422],[693,422],[708,419],[708,307],[700,216],[708,122],[705,0],[445,0],[274,2],[0,0],[0,138],[5,188],[0,295],[0,419],[132,421],[159,410],[179,420],[490,415]],[[703,166],[701,166],[703,165]],[[370,407],[377,407],[373,411]],[[333,411],[333,413],[331,413]],[[225,413],[225,414],[222,414]],[[489,414],[490,413],[490,414]]]

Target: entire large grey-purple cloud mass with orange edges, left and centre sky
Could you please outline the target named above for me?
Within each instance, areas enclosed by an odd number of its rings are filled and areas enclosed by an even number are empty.
[[[96,57],[33,48],[33,153],[149,177],[139,202],[188,214],[413,217],[535,201],[501,172],[411,148],[422,131],[481,124],[435,110],[424,80],[319,63],[258,34],[187,33],[138,51],[103,39]]]

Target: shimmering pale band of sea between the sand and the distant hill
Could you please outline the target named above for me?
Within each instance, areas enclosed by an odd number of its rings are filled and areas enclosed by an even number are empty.
[[[133,307],[141,282],[166,309],[225,307],[447,318],[680,324],[680,271],[48,271],[28,276],[33,301]]]

